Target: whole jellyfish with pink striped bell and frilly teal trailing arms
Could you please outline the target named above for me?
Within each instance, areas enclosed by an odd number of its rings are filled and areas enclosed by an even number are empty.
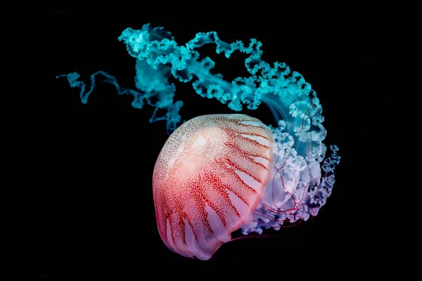
[[[103,71],[91,74],[89,89],[77,72],[57,78],[79,88],[82,103],[101,78],[118,94],[134,96],[132,106],[154,107],[150,122],[166,122],[170,136],[155,162],[152,188],[158,233],[170,250],[208,260],[231,241],[235,230],[261,234],[318,214],[333,190],[340,156],[331,145],[326,157],[322,106],[301,74],[285,63],[271,66],[262,60],[262,44],[256,39],[249,46],[242,41],[227,44],[217,32],[200,32],[179,46],[163,27],[148,24],[141,30],[127,28],[118,39],[136,59],[137,90],[121,87]],[[234,51],[248,55],[250,76],[226,81],[212,73],[215,62],[199,60],[196,51],[204,44],[215,44],[226,58]],[[181,122],[183,102],[174,100],[177,88],[170,77],[192,81],[198,95],[215,98],[232,111],[243,106],[255,110],[264,103],[276,126],[238,113]]]

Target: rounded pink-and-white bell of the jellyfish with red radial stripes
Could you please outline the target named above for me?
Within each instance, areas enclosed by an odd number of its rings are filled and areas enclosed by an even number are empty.
[[[153,173],[158,230],[182,256],[210,259],[252,223],[271,176],[271,130],[248,115],[203,115],[179,126]]]

